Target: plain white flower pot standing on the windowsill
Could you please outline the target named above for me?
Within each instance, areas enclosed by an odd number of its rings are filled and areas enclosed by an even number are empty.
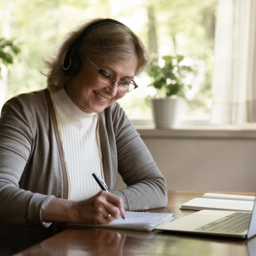
[[[156,128],[174,128],[178,121],[180,99],[151,99],[153,120]]]

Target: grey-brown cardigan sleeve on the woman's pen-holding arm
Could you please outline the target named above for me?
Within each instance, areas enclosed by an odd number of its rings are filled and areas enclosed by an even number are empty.
[[[41,213],[55,196],[32,193],[19,182],[33,154],[36,123],[24,104],[12,98],[2,107],[0,117],[0,222],[18,226],[44,226]],[[29,177],[27,177],[29,179]]]

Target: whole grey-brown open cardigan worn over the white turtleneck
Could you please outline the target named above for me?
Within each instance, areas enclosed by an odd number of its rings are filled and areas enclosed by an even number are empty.
[[[128,211],[166,206],[166,180],[123,109],[115,103],[99,115],[110,192]],[[115,190],[117,172],[127,188]],[[0,223],[47,227],[41,212],[63,198],[64,178],[44,90],[8,100],[0,118]]]

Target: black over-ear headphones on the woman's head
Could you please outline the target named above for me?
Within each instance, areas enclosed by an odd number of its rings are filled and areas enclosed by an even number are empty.
[[[77,48],[80,45],[80,43],[82,42],[82,38],[84,37],[84,35],[87,32],[89,32],[90,30],[94,29],[95,27],[102,25],[102,24],[107,24],[107,23],[113,23],[113,24],[122,25],[124,27],[127,27],[125,24],[123,24],[117,20],[113,20],[113,19],[99,20],[97,22],[90,24],[88,27],[86,27],[82,31],[82,33],[79,35],[79,37],[77,37],[76,40],[74,40],[74,43],[71,45],[68,52],[66,53],[66,56],[65,56],[63,64],[62,64],[62,69],[65,74],[67,74],[68,76],[71,76],[71,75],[77,74],[80,69],[81,59],[80,59],[79,55],[77,54]]]

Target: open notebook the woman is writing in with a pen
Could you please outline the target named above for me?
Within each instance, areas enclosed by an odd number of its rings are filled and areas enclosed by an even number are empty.
[[[127,223],[120,217],[108,224],[81,224],[69,223],[70,225],[90,226],[90,227],[106,227],[113,229],[133,229],[139,231],[152,231],[156,226],[168,223],[174,219],[172,213],[147,213],[138,211],[126,211]]]

